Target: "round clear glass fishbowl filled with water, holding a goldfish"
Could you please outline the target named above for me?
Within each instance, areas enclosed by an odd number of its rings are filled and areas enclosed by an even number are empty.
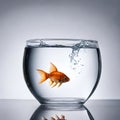
[[[29,40],[24,52],[24,76],[40,103],[84,103],[101,73],[97,41]]]

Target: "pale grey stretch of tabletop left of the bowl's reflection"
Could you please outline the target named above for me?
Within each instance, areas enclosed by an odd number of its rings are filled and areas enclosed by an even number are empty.
[[[0,100],[0,120],[30,120],[39,105],[34,100]]]

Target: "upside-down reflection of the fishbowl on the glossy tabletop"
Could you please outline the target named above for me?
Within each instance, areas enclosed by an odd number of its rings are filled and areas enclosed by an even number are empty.
[[[41,105],[30,120],[94,120],[84,105]]]

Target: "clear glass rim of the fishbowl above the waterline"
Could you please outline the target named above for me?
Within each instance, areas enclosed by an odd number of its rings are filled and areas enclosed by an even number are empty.
[[[41,38],[29,39],[26,41],[26,47],[92,47],[98,48],[97,40],[73,39],[73,38]]]

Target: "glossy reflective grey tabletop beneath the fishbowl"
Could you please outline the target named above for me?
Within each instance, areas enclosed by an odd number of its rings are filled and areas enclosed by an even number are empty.
[[[120,120],[119,100],[90,100],[85,104],[87,110],[74,105],[40,108],[36,100],[0,100],[0,120],[41,120],[43,116],[50,120],[61,114],[67,120]]]

